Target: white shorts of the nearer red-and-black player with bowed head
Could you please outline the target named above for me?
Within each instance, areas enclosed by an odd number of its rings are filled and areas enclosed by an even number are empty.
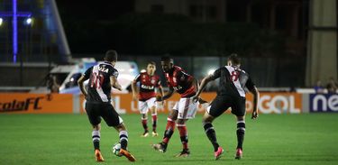
[[[180,98],[178,103],[172,108],[178,111],[178,119],[195,118],[198,102],[194,102],[192,97]]]

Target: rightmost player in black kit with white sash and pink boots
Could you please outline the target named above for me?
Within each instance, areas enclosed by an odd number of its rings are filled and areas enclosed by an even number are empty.
[[[257,103],[260,94],[249,77],[249,74],[240,69],[240,58],[237,54],[232,54],[228,58],[227,64],[227,66],[216,69],[213,74],[203,78],[201,87],[198,88],[196,96],[193,97],[194,101],[197,101],[198,96],[206,87],[206,84],[216,78],[220,78],[217,96],[207,107],[206,114],[203,116],[206,136],[214,146],[215,160],[218,160],[221,157],[224,150],[217,142],[215,129],[212,123],[215,118],[222,115],[229,107],[232,108],[233,115],[236,115],[237,117],[237,149],[235,159],[239,160],[242,158],[242,143],[245,133],[245,87],[253,94],[253,111],[251,119],[256,119],[258,117]]]

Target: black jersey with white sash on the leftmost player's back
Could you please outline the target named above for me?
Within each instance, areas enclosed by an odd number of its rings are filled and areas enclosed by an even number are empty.
[[[110,77],[118,77],[118,71],[112,64],[101,62],[89,68],[84,73],[89,78],[87,86],[87,102],[110,103],[111,90]]]

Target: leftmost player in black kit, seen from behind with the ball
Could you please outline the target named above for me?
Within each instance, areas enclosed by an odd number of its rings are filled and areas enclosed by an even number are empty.
[[[93,66],[78,79],[78,86],[82,94],[86,97],[86,112],[90,124],[93,125],[92,138],[95,149],[96,161],[104,161],[100,151],[100,130],[101,117],[104,118],[108,126],[114,127],[120,135],[121,150],[120,155],[125,156],[130,161],[135,161],[132,154],[127,151],[128,133],[123,124],[123,119],[118,115],[110,102],[112,87],[122,90],[117,81],[118,71],[114,69],[117,61],[115,50],[108,50],[105,53],[105,61]],[[84,81],[89,79],[87,90]]]

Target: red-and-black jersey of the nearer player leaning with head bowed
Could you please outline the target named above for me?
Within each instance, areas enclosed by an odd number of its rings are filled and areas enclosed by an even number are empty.
[[[193,76],[188,75],[183,69],[174,66],[171,73],[165,73],[168,87],[173,87],[181,97],[190,97],[196,94],[193,85]]]

